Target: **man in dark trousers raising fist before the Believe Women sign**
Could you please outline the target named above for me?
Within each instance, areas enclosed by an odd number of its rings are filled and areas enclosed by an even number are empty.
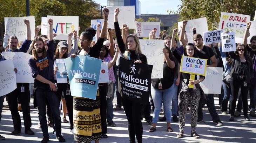
[[[24,20],[24,23],[27,26],[27,37],[24,40],[23,44],[18,49],[18,38],[16,36],[10,36],[8,38],[8,52],[24,52],[26,53],[29,45],[31,44],[31,29],[28,20]],[[31,128],[31,116],[30,116],[30,92],[29,92],[29,83],[16,83],[17,88],[8,93],[6,95],[6,99],[8,100],[9,109],[12,114],[13,119],[13,127],[14,131],[12,131],[12,135],[16,135],[21,133],[21,119],[20,114],[18,112],[18,97],[20,98],[21,108],[23,113],[23,120],[25,126],[25,133],[28,135],[34,135],[34,132],[30,129]]]

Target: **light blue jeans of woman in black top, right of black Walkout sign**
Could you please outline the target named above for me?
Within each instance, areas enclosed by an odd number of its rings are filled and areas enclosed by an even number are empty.
[[[159,118],[159,113],[161,111],[162,101],[163,101],[163,108],[164,114],[166,116],[166,121],[171,122],[171,100],[173,99],[174,95],[174,85],[172,85],[168,89],[159,90],[153,88],[151,85],[151,96],[154,101],[155,109],[153,112],[153,123],[157,123]]]

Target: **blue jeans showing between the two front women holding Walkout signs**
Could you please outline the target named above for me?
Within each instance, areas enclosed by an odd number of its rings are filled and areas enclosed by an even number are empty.
[[[116,83],[113,84],[113,95],[110,98],[107,98],[107,122],[112,122],[113,121],[113,99],[114,99],[114,94],[115,94],[115,87]]]

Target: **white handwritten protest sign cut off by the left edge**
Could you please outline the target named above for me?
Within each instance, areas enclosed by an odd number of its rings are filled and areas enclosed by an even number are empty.
[[[5,60],[0,65],[0,96],[3,96],[15,90],[17,85],[13,62]]]

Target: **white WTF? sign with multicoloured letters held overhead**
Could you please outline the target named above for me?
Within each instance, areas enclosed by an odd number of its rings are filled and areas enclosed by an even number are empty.
[[[67,40],[68,33],[73,30],[78,31],[79,17],[78,16],[50,16],[47,15],[47,20],[51,18],[53,20],[53,33],[57,36],[54,37],[56,40]],[[49,26],[48,26],[49,30]],[[74,36],[72,37],[74,40]]]

